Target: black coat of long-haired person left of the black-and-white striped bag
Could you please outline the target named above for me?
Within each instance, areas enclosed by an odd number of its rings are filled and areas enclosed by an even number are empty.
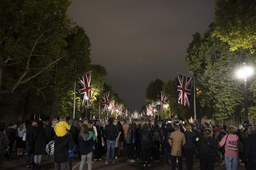
[[[44,129],[38,129],[36,128],[36,140],[35,140],[35,149],[34,154],[35,155],[42,155],[45,153],[45,131]]]

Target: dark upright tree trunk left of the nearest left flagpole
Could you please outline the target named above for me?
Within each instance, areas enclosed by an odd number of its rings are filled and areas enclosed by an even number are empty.
[[[54,67],[54,82],[52,85],[52,105],[51,105],[51,110],[50,110],[50,121],[53,121],[53,119],[55,118],[55,114],[56,114],[56,106],[57,106],[56,78],[57,78],[57,65],[55,65],[55,67]]]

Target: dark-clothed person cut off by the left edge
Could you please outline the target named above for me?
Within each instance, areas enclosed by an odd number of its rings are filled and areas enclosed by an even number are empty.
[[[0,170],[3,170],[3,161],[6,148],[8,147],[8,138],[4,134],[4,125],[0,125]]]

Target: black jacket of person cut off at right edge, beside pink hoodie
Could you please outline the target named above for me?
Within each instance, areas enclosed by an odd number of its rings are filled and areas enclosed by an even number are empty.
[[[256,133],[244,139],[243,159],[256,161]]]

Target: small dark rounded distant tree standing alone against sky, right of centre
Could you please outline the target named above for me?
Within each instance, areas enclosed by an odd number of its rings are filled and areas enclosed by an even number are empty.
[[[164,82],[160,79],[155,79],[151,81],[146,89],[146,101],[152,103],[152,101],[157,101],[160,95],[160,91],[162,91],[162,86]]]

